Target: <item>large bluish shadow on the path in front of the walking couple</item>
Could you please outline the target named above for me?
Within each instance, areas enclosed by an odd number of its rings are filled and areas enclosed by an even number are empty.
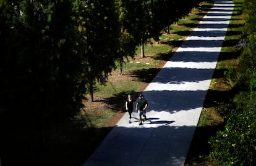
[[[172,121],[168,121],[172,122]],[[175,123],[175,122],[173,122]],[[180,165],[195,127],[114,127],[84,165]],[[147,154],[147,155],[145,155]]]

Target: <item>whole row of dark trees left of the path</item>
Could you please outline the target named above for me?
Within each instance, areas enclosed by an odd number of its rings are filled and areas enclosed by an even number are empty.
[[[105,82],[116,61],[122,74],[124,59],[134,56],[137,45],[158,41],[196,5],[197,0],[2,0],[0,109],[19,107],[38,117],[79,110],[84,93],[93,101],[95,82]]]

